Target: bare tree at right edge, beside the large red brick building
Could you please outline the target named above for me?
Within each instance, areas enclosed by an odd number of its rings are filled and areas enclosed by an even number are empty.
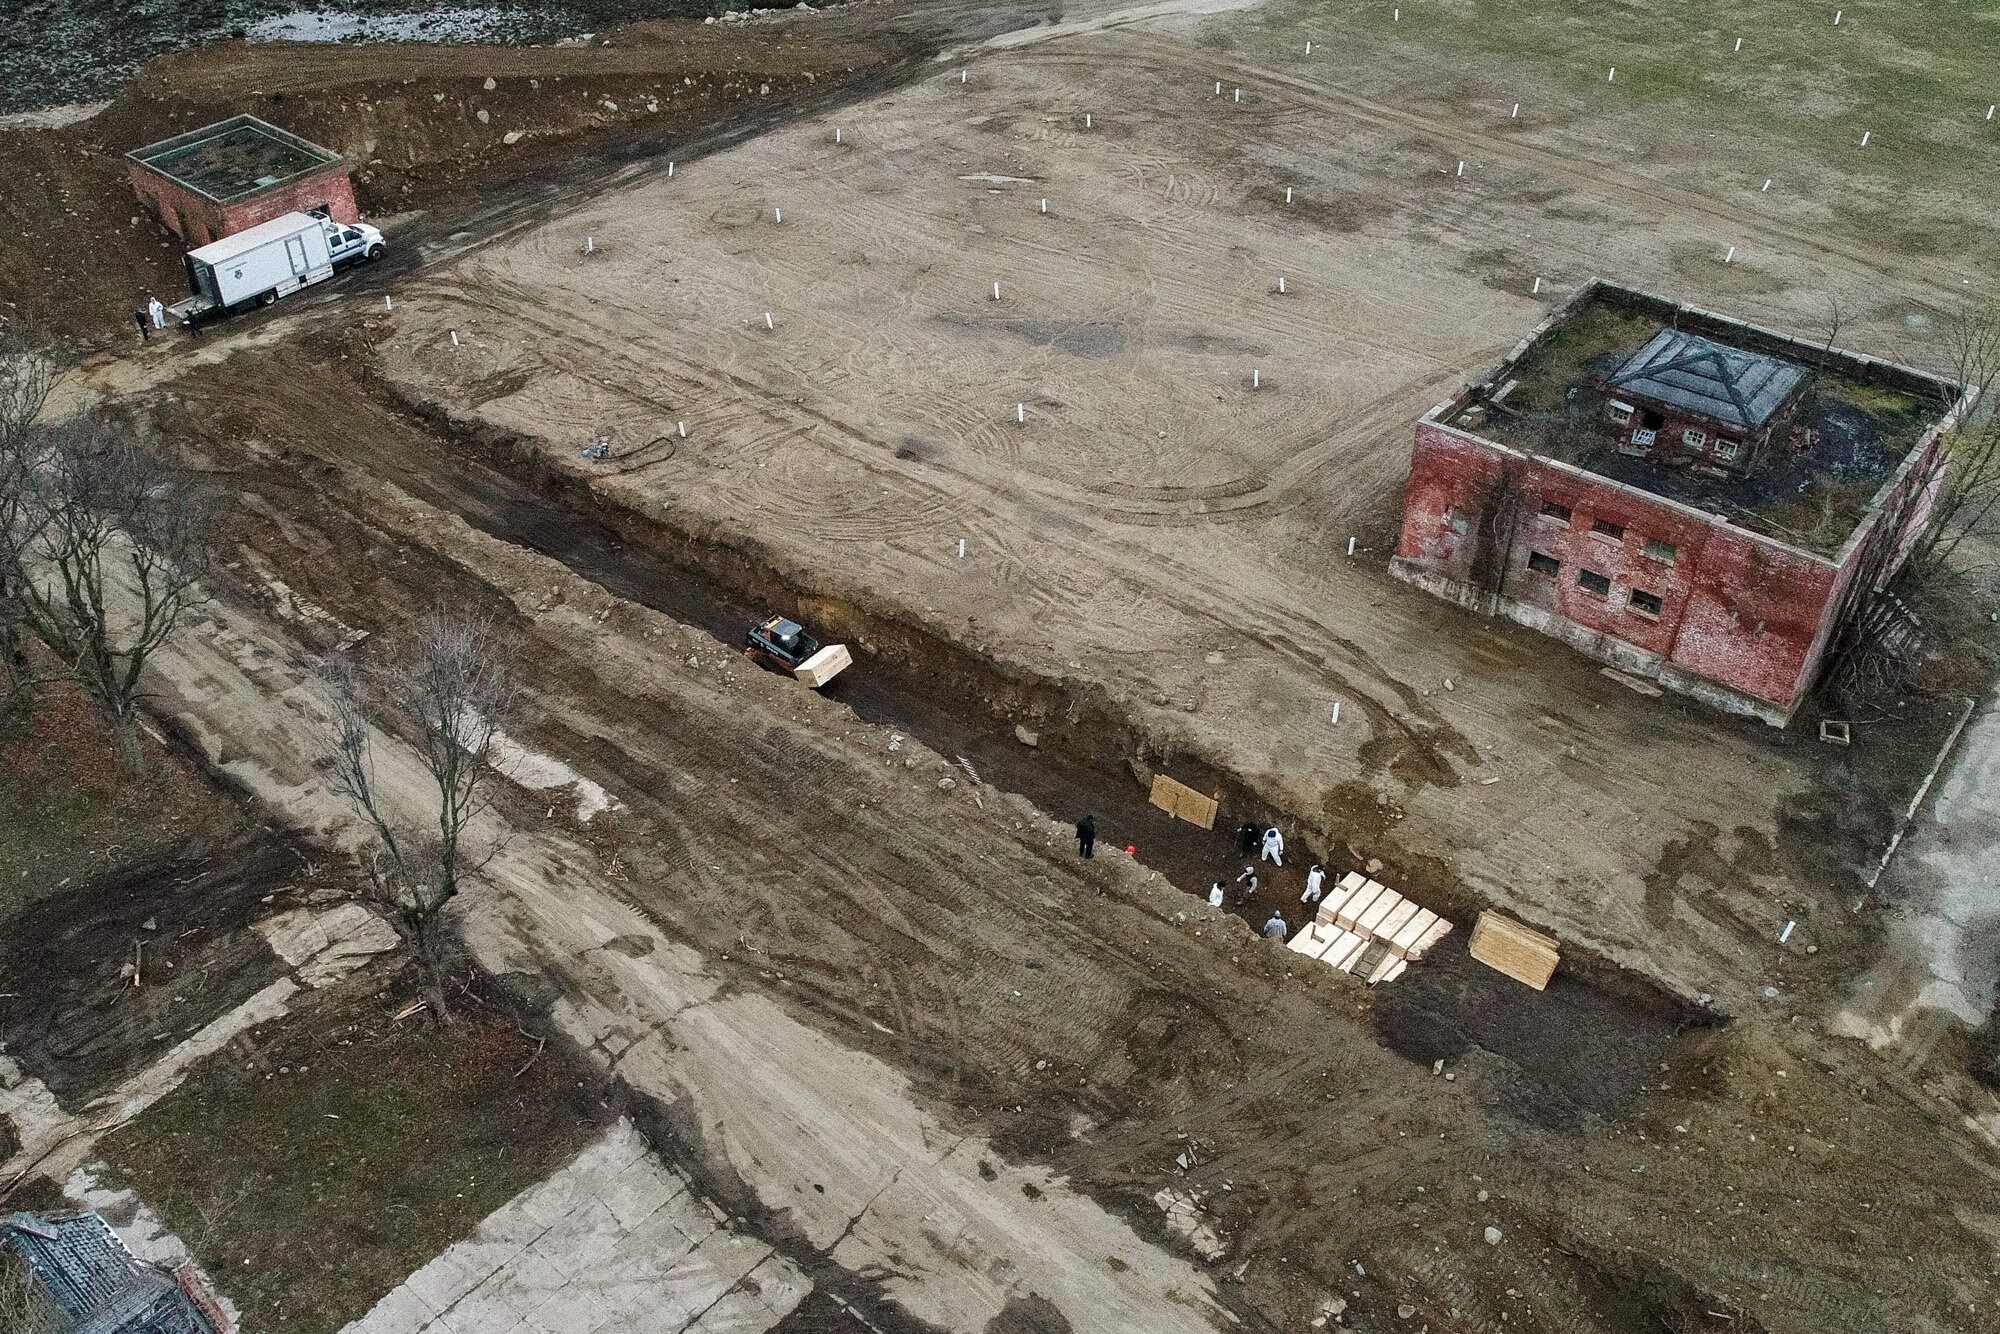
[[[1938,442],[1930,522],[1910,546],[1904,570],[1914,584],[1940,574],[1968,538],[2000,536],[2000,302],[1966,306],[1946,322],[1946,378],[1978,390],[1976,406]],[[1950,394],[1956,400],[1960,390]]]

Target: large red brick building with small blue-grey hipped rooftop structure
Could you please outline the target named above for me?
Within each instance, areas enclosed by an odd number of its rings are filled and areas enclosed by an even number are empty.
[[[1390,570],[1784,726],[1922,532],[1968,406],[1906,366],[1592,282],[1418,422]]]

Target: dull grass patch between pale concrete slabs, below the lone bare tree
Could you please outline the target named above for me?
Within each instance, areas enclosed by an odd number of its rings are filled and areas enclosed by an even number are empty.
[[[104,1146],[244,1328],[332,1334],[610,1120],[498,1002],[396,1024],[398,996],[364,970]]]

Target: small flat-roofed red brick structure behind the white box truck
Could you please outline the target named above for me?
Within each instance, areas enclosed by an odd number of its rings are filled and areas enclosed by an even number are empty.
[[[132,188],[190,248],[292,212],[360,222],[348,162],[256,116],[126,154]]]

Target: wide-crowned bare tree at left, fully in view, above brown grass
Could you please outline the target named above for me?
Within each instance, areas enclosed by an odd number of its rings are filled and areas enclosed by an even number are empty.
[[[212,506],[192,478],[102,420],[40,440],[20,516],[28,540],[16,552],[16,610],[96,700],[138,770],[140,676],[204,598]]]

